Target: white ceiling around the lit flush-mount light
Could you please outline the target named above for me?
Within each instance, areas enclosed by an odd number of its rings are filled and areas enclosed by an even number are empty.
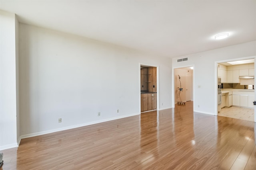
[[[256,40],[256,0],[0,0],[18,20],[178,57]],[[227,39],[215,40],[228,32]]]

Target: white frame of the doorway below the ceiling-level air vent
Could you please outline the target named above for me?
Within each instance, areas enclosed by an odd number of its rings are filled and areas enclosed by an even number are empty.
[[[172,67],[172,107],[175,107],[175,78],[174,78],[174,70],[177,68],[185,68],[185,67],[193,67],[193,88],[191,90],[193,90],[193,111],[195,111],[195,81],[194,81],[194,77],[195,77],[195,65],[187,65],[187,66],[181,66],[181,67]]]

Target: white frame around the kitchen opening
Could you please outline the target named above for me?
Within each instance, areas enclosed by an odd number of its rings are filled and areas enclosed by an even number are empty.
[[[218,64],[219,63],[225,63],[225,62],[230,62],[230,61],[238,61],[238,60],[247,60],[247,59],[254,59],[254,76],[256,75],[256,56],[250,56],[250,57],[242,57],[242,58],[235,58],[235,59],[226,59],[222,61],[215,61],[215,76],[214,76],[214,92],[215,92],[215,112],[214,115],[218,115],[218,92],[217,92],[217,85],[218,85]],[[254,84],[256,85],[256,79],[254,78]],[[254,85],[254,86],[255,86]],[[256,90],[254,90],[254,100],[256,98]],[[254,122],[256,122],[256,107],[254,106]]]

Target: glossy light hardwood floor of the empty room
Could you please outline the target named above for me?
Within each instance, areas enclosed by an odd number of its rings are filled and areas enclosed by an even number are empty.
[[[0,169],[255,170],[256,124],[192,105],[22,139]]]

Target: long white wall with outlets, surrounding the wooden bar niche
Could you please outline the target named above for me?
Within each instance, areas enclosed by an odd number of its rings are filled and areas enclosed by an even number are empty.
[[[169,58],[22,23],[19,30],[22,137],[139,114],[139,63],[159,66],[160,109],[172,106]]]

